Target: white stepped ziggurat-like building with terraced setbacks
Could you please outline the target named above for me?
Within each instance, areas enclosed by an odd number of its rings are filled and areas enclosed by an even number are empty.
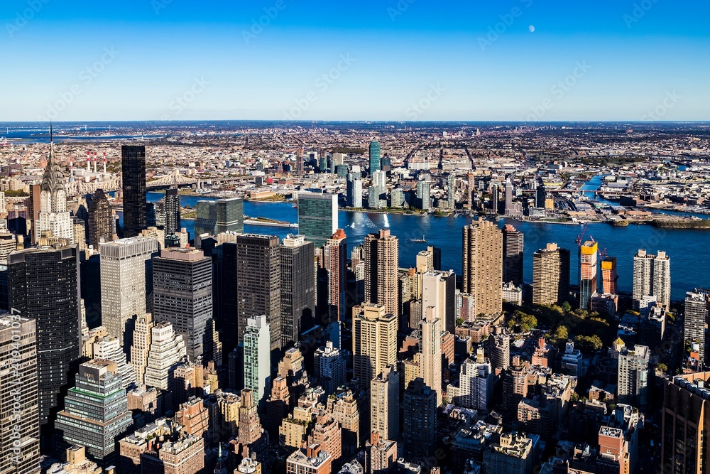
[[[146,386],[168,390],[173,372],[187,357],[185,340],[170,323],[157,323],[151,330],[151,348],[146,363]]]

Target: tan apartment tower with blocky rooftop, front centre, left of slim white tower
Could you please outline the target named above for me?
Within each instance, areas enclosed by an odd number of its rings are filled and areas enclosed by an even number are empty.
[[[365,389],[385,367],[397,363],[398,318],[373,303],[363,303],[353,313],[353,373]]]

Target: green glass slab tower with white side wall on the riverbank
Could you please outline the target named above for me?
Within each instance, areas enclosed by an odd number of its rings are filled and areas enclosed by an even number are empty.
[[[338,195],[298,193],[298,233],[322,247],[338,230]]]

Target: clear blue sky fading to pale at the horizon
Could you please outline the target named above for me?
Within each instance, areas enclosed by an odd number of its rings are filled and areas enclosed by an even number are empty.
[[[0,121],[710,120],[706,1],[3,6]]]

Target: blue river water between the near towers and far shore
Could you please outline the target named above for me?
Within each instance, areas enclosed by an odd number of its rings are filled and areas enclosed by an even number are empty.
[[[163,194],[148,193],[148,200],[160,200]],[[184,207],[195,207],[197,196],[180,196]],[[244,214],[250,217],[268,217],[275,220],[297,222],[297,209],[290,203],[244,203]],[[709,217],[709,216],[704,216]],[[471,222],[470,217],[435,217],[433,215],[410,216],[397,214],[376,214],[371,212],[338,213],[339,227],[345,230],[348,237],[348,247],[361,244],[366,235],[387,228],[392,235],[400,239],[400,266],[414,266],[416,254],[427,245],[442,249],[442,267],[453,269],[461,274],[461,228]],[[577,243],[575,240],[581,234],[581,225],[542,224],[537,222],[518,222],[501,220],[513,224],[525,234],[525,281],[532,282],[532,254],[547,242],[556,242],[560,247],[571,250],[572,271],[570,278],[575,284],[577,280]],[[184,220],[190,236],[194,237],[192,220]],[[260,225],[245,226],[246,232],[257,234],[278,235],[285,237],[288,233],[296,233],[297,229],[288,227],[267,227]],[[427,243],[411,242],[410,239],[421,239]],[[608,255],[617,258],[619,274],[619,289],[630,292],[633,283],[633,256],[638,249],[648,249],[649,252],[665,250],[671,259],[672,298],[683,299],[686,291],[697,287],[710,287],[710,230],[658,229],[651,225],[629,225],[628,227],[613,227],[608,224],[590,224],[587,227],[585,239],[594,237],[599,242],[599,249],[606,249]]]

